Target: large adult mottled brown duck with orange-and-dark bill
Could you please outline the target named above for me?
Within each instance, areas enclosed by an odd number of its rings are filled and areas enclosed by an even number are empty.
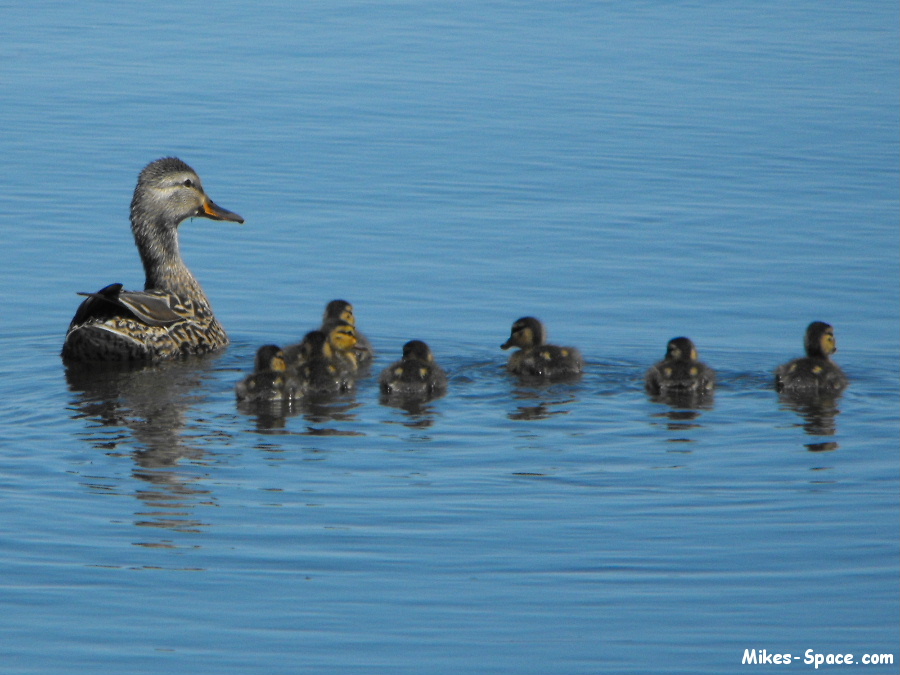
[[[160,361],[228,344],[200,283],[178,246],[178,225],[199,216],[243,223],[206,196],[200,178],[180,159],[148,164],[131,200],[131,230],[146,282],[143,291],[111,284],[82,293],[62,356],[72,361]]]

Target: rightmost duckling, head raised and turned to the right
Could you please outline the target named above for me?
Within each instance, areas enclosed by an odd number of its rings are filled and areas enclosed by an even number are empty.
[[[831,360],[837,351],[834,328],[824,321],[813,321],[803,341],[806,356],[779,366],[775,388],[785,393],[836,393],[849,383],[844,371]]]

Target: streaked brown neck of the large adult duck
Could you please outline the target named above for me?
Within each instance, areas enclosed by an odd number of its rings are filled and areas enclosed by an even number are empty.
[[[167,291],[208,305],[200,283],[181,259],[178,224],[145,216],[138,209],[132,209],[134,241],[146,274],[144,290]]]

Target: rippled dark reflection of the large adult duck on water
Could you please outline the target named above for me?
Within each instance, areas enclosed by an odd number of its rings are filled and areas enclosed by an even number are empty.
[[[199,487],[203,476],[193,467],[208,459],[205,444],[221,446],[228,438],[221,429],[209,436],[189,433],[193,423],[188,411],[203,402],[204,381],[216,358],[195,356],[157,365],[73,363],[66,368],[74,395],[72,418],[96,423],[84,432],[85,440],[111,456],[128,449],[135,464],[132,475],[149,484],[135,490],[148,507],[136,514],[137,525],[177,531],[202,527],[191,512],[214,497]]]

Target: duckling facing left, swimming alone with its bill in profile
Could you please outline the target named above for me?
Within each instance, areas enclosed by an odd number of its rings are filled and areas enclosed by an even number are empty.
[[[547,344],[544,324],[531,316],[522,317],[512,326],[509,339],[501,349],[518,347],[509,357],[506,368],[524,377],[540,377],[560,380],[575,377],[584,370],[584,359],[574,347],[557,347]]]

